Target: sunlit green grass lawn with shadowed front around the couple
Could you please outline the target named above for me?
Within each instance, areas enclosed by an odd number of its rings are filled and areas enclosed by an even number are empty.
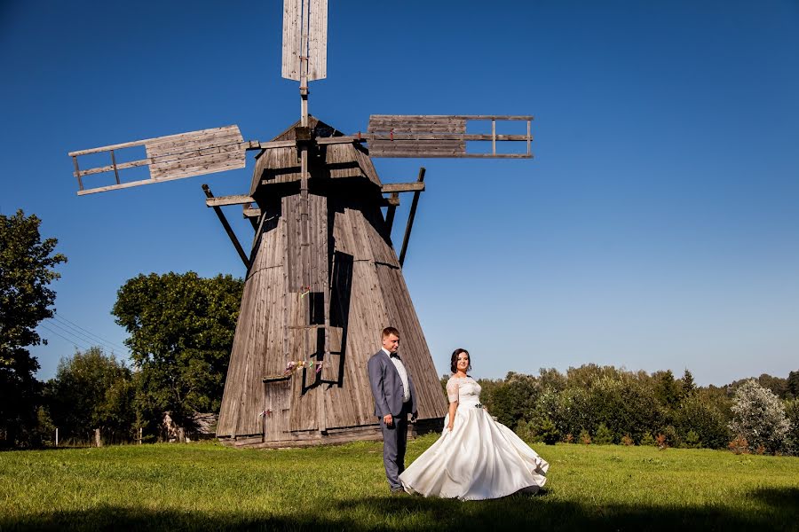
[[[409,442],[409,463],[435,440]],[[535,496],[391,496],[382,444],[218,443],[0,453],[0,530],[799,530],[799,458],[534,445]]]

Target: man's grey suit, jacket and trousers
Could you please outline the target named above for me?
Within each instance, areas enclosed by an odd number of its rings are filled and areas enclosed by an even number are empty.
[[[369,384],[375,396],[375,415],[380,419],[383,431],[383,464],[385,476],[392,491],[402,489],[399,473],[405,471],[405,449],[407,447],[407,415],[416,416],[416,392],[414,381],[407,373],[410,399],[403,403],[402,379],[390,356],[380,349],[369,358]],[[384,417],[392,415],[392,425],[387,426]]]

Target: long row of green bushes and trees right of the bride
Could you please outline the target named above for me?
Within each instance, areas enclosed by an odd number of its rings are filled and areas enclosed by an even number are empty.
[[[448,376],[442,376],[442,385]],[[730,448],[799,455],[799,371],[699,387],[685,370],[585,364],[478,379],[481,402],[531,442]]]

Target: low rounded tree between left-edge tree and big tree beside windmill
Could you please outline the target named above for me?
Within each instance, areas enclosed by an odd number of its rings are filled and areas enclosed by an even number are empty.
[[[61,358],[48,382],[52,422],[61,437],[85,439],[99,428],[105,437],[130,440],[133,413],[131,370],[94,347]]]

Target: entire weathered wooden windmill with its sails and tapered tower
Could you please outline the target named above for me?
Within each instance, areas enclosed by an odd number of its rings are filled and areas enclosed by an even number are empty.
[[[217,429],[237,446],[379,438],[366,364],[387,325],[399,329],[415,379],[416,429],[439,429],[447,403],[402,277],[424,168],[415,182],[382,184],[371,158],[532,156],[531,116],[371,115],[366,133],[344,135],[309,115],[308,82],[327,74],[327,4],[284,0],[282,75],[299,81],[302,114],[278,137],[244,141],[227,126],[69,153],[82,195],[244,168],[245,152],[257,150],[247,194],[215,198],[202,185],[247,267]],[[467,134],[473,121],[491,131]],[[497,134],[503,121],[526,121],[526,134]],[[526,151],[498,153],[505,141]],[[491,151],[471,153],[467,142]],[[141,145],[146,159],[116,162],[115,153]],[[80,168],[80,156],[101,152],[110,165]],[[149,179],[120,180],[138,166]],[[85,188],[101,173],[115,183]],[[398,258],[390,235],[400,192],[414,194]],[[243,205],[255,229],[249,254],[222,213],[230,205]]]

